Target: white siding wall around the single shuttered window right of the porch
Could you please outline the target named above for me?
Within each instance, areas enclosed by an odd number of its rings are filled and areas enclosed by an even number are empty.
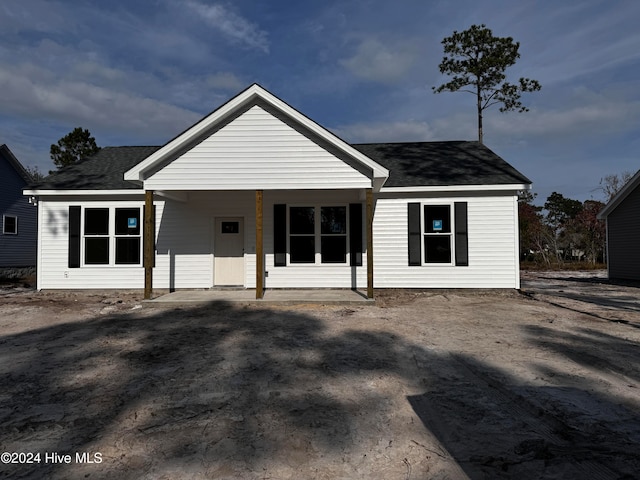
[[[469,266],[408,264],[407,205],[467,202]],[[421,214],[424,210],[421,209]],[[519,288],[515,197],[381,198],[373,222],[376,288]]]

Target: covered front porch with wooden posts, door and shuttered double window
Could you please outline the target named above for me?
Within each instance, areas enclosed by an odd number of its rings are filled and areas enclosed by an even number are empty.
[[[254,299],[336,289],[373,298],[373,209],[372,189],[362,188],[147,190],[145,298],[154,288],[232,288]],[[312,217],[310,235],[296,231],[307,219],[296,220],[300,214]]]

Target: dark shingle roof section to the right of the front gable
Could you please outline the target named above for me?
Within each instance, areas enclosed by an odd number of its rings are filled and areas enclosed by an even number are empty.
[[[385,187],[531,183],[480,142],[352,145],[389,170]]]

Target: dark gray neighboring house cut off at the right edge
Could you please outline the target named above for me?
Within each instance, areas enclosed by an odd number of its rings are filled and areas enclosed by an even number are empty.
[[[598,218],[607,222],[609,278],[640,281],[640,170]]]

